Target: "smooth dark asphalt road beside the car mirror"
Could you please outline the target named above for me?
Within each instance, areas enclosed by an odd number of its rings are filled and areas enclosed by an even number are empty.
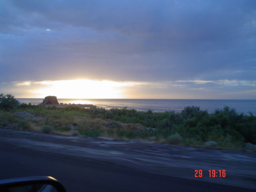
[[[67,192],[252,192],[256,190],[140,172],[106,162],[0,146],[0,179],[52,176]]]

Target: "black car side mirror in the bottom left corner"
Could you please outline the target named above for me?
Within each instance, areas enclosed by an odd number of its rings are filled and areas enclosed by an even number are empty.
[[[0,192],[66,192],[66,189],[50,176],[34,176],[0,180]]]

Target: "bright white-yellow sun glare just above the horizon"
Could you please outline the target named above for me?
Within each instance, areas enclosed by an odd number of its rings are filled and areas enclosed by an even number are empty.
[[[30,90],[37,98],[44,98],[48,95],[57,98],[123,98],[125,86],[132,86],[131,82],[113,82],[108,80],[56,80],[34,82],[39,88]]]

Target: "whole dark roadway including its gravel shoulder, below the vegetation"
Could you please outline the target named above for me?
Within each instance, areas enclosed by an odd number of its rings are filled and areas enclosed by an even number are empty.
[[[256,189],[255,152],[0,128],[0,154],[0,179],[48,175],[68,191]],[[195,178],[195,170],[203,176]],[[226,170],[226,177],[208,170]]]

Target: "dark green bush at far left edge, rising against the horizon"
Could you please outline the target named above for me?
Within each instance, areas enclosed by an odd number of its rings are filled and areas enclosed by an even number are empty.
[[[10,111],[15,109],[20,102],[18,100],[14,99],[14,96],[12,94],[0,94],[0,109],[4,111]]]

